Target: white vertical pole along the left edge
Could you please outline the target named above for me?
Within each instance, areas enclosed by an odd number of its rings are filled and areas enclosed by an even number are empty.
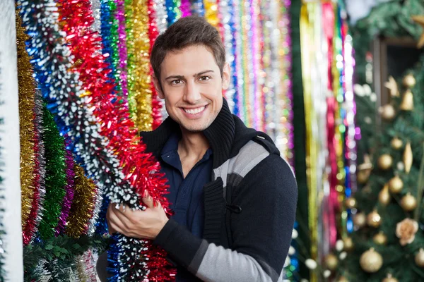
[[[0,146],[4,169],[0,207],[4,209],[2,236],[6,281],[23,281],[20,226],[18,69],[16,66],[15,1],[0,1]]]

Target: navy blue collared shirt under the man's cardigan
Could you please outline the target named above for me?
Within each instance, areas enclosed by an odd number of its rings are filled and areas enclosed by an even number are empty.
[[[204,192],[203,187],[212,180],[212,149],[209,148],[204,157],[197,162],[184,178],[182,164],[178,154],[180,135],[173,133],[160,154],[160,165],[170,185],[169,194],[165,195],[170,202],[174,215],[172,219],[199,238],[204,229]],[[176,282],[200,281],[183,267],[177,266]]]

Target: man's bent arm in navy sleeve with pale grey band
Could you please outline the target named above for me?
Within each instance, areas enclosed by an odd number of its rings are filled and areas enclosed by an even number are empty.
[[[175,262],[204,281],[278,281],[290,247],[298,190],[288,164],[275,154],[252,169],[233,192],[232,250],[208,244],[175,221],[155,238]]]

